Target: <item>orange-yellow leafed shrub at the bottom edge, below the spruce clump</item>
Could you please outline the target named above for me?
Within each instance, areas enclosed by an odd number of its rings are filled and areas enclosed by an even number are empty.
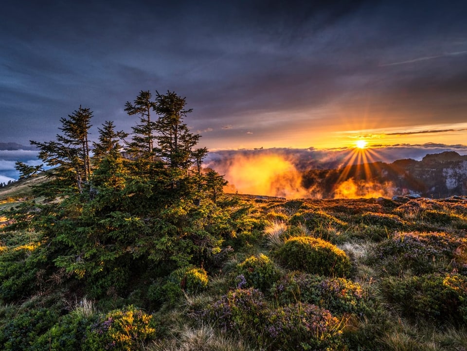
[[[151,317],[133,306],[100,316],[86,334],[86,350],[141,350],[155,337]]]

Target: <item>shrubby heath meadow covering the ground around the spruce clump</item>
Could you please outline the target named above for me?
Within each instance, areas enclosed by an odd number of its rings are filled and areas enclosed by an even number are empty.
[[[2,350],[467,350],[466,197],[226,194],[209,261],[97,294],[12,226],[30,181],[0,190]]]

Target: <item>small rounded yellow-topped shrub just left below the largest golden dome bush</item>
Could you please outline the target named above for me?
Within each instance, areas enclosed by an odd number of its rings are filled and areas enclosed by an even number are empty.
[[[245,286],[267,291],[279,278],[279,272],[268,256],[251,256],[237,264],[237,274],[245,279]]]

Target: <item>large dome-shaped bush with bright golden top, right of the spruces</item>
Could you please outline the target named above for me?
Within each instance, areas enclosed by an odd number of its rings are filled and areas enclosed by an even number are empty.
[[[325,276],[347,277],[350,260],[337,246],[308,236],[292,237],[277,251],[279,259],[294,270]]]

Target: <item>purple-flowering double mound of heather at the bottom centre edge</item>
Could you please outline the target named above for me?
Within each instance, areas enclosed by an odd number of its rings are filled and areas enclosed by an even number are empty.
[[[341,344],[342,323],[318,306],[269,307],[255,289],[236,289],[207,310],[217,328],[248,337],[266,350],[328,350]]]

